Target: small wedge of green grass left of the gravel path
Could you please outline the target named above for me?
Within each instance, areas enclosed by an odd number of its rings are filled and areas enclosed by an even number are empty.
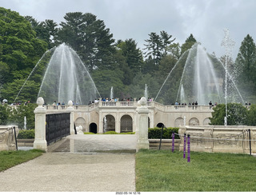
[[[35,157],[42,155],[43,151],[39,149],[30,149],[28,151],[1,151],[0,152],[0,172],[22,162],[30,161]]]

